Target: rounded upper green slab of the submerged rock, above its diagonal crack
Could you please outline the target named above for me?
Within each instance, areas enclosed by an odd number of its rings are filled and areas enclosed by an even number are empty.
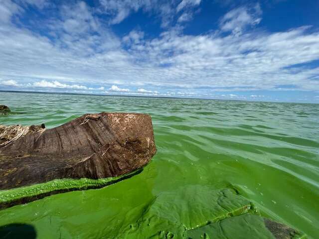
[[[247,199],[231,189],[185,186],[154,198],[139,219],[116,238],[185,239],[187,230],[248,212],[258,213]]]

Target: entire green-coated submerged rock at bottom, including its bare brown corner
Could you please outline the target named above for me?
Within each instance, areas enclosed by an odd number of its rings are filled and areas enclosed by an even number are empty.
[[[188,197],[185,200],[185,197]],[[259,216],[233,189],[192,185],[156,197],[117,239],[302,239],[306,236]]]

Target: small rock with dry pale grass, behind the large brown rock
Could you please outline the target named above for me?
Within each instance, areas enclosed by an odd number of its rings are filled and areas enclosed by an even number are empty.
[[[1,125],[0,124],[0,147],[5,144],[14,141],[24,135],[32,134],[45,129],[44,123],[41,125]]]

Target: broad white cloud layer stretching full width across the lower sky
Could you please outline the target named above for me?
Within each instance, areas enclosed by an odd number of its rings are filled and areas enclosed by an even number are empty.
[[[121,49],[121,44],[102,50],[96,49],[100,41],[93,46],[91,36],[81,44],[70,41],[71,48],[60,48],[29,31],[1,26],[0,75],[22,84],[49,78],[67,84],[139,82],[145,87],[213,87],[214,91],[218,87],[223,87],[222,91],[227,87],[272,89],[284,84],[319,90],[317,81],[310,84],[309,80],[318,75],[318,69],[289,68],[319,59],[319,32],[306,30],[237,37],[167,31],[159,38],[132,42],[129,50]],[[64,43],[64,39],[61,41]],[[113,42],[107,38],[104,43]]]

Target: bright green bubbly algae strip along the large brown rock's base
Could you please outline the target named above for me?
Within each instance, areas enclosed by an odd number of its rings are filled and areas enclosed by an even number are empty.
[[[7,204],[22,198],[31,198],[40,195],[50,194],[56,191],[75,191],[86,190],[90,188],[101,188],[125,178],[131,177],[143,169],[135,170],[131,173],[124,174],[117,177],[101,178],[101,179],[55,179],[45,183],[34,184],[25,187],[13,188],[0,191],[0,204]]]

